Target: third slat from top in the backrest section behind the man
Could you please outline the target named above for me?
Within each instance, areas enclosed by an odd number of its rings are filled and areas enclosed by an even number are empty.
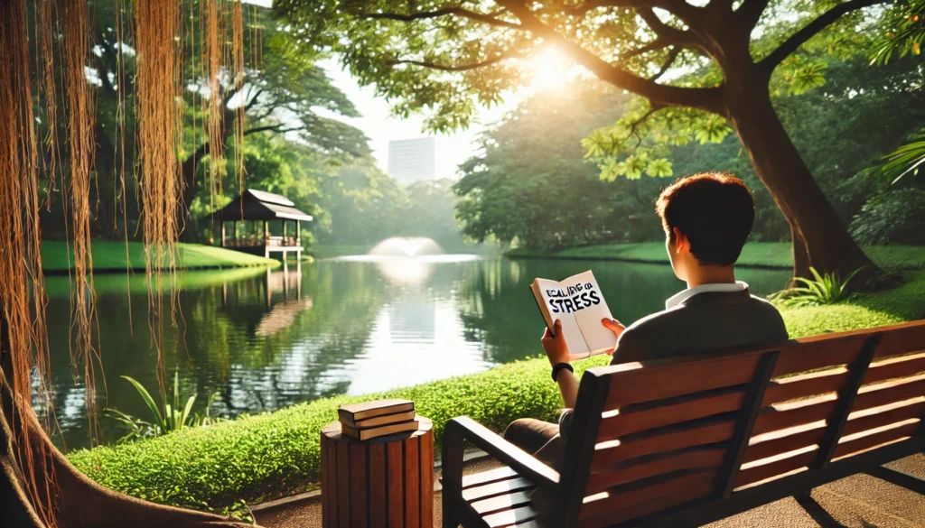
[[[609,467],[617,462],[651,453],[723,442],[733,437],[735,420],[710,420],[707,424],[669,429],[663,434],[653,431],[649,432],[652,434],[644,433],[633,438],[624,438],[619,440],[619,446],[612,448],[598,448],[592,457],[592,467]]]

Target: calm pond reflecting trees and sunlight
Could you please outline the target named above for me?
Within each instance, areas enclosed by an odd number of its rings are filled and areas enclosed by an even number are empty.
[[[544,324],[529,284],[536,276],[561,279],[587,269],[624,324],[662,309],[684,287],[668,264],[475,255],[357,256],[287,270],[185,272],[178,327],[161,332],[164,370],[171,382],[179,372],[184,402],[196,395],[194,411],[203,412],[211,397],[209,411],[223,417],[475,373],[541,354]],[[781,289],[789,274],[743,269],[738,276],[765,295]],[[156,394],[144,278],[98,275],[95,285],[105,373],[97,375],[97,405],[147,418],[142,399],[120,377]],[[48,277],[47,288],[56,420],[68,448],[80,448],[89,434],[84,389],[68,357],[68,278]],[[99,425],[103,442],[120,436],[102,413]]]

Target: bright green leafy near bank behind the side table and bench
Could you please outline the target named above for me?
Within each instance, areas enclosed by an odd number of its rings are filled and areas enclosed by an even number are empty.
[[[791,335],[800,337],[923,318],[925,270],[906,275],[898,288],[843,304],[787,309],[784,320]],[[579,362],[575,371],[580,375],[607,359]],[[68,459],[97,482],[129,495],[220,510],[240,499],[253,503],[313,487],[321,427],[336,419],[339,404],[383,396],[413,399],[433,419],[438,441],[454,416],[468,415],[501,431],[515,418],[552,419],[561,405],[549,363],[534,359],[385,394],[320,399],[161,438],[76,451]]]

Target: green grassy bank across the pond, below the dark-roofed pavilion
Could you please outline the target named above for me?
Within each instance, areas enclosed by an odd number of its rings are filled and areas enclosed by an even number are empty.
[[[178,244],[177,266],[182,269],[210,269],[278,265],[278,261],[248,253],[235,252],[202,244]],[[93,269],[98,272],[123,272],[127,268],[144,270],[144,245],[129,242],[93,240]],[[73,248],[58,240],[42,242],[42,264],[46,273],[67,273],[74,267]]]

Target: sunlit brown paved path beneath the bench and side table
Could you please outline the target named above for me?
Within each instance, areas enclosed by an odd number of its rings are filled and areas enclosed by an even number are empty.
[[[898,460],[891,467],[925,478],[925,455]],[[440,494],[434,500],[434,526],[442,524]],[[265,528],[320,528],[317,498],[276,510],[260,511]],[[868,475],[855,475],[812,492],[801,505],[784,498],[709,524],[709,528],[925,528],[925,497]]]

